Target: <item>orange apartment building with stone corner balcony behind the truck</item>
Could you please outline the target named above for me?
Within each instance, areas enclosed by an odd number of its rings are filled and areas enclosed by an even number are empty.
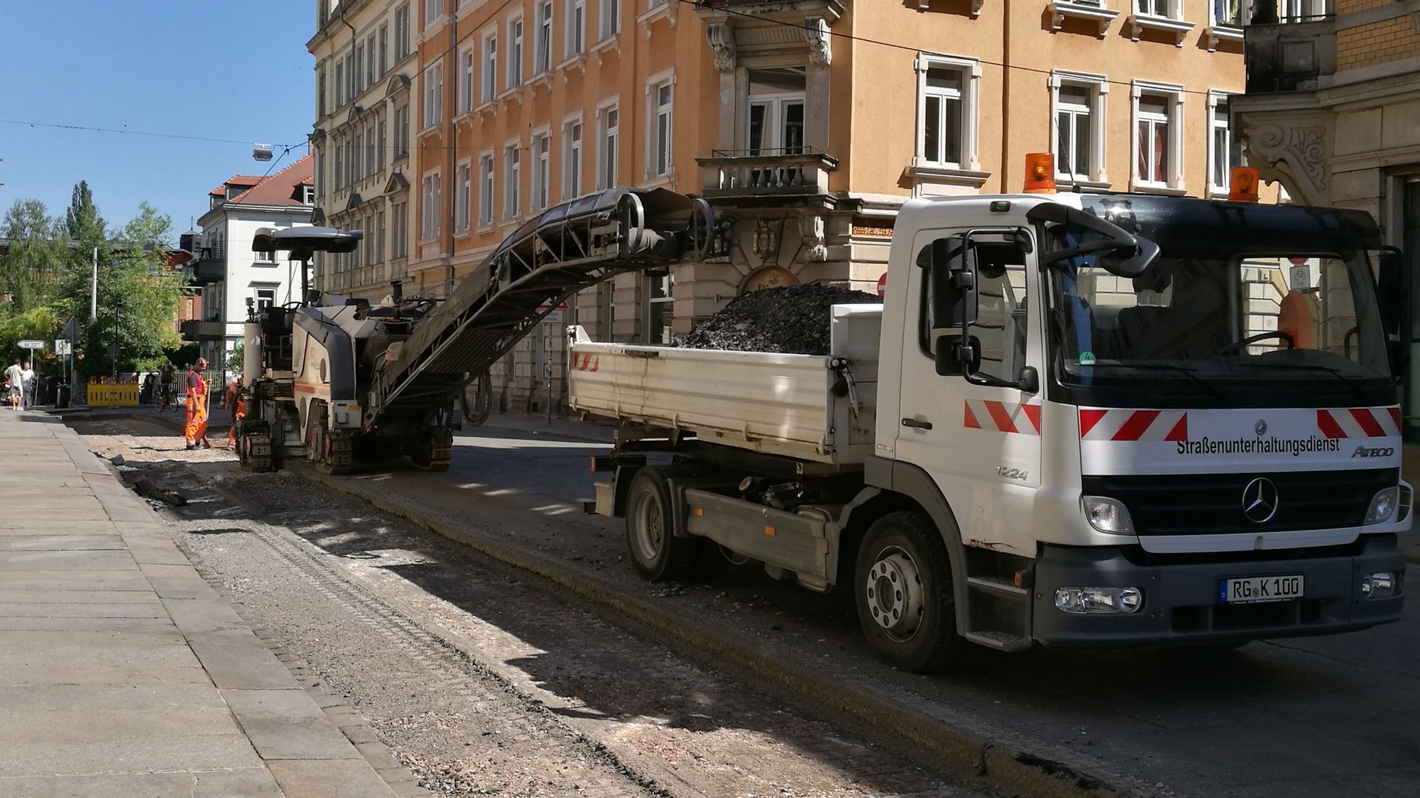
[[[1028,152],[1082,192],[1225,195],[1240,160],[1238,0],[365,4],[415,26],[406,291],[447,293],[520,222],[611,185],[736,219],[724,258],[578,297],[562,319],[602,339],[666,341],[765,285],[872,291],[905,199],[1018,192]],[[352,202],[328,196],[331,219]],[[558,328],[521,346],[504,403],[538,402],[559,351]]]

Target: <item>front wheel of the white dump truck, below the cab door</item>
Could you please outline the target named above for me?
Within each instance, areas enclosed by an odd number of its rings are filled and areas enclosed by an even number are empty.
[[[868,646],[910,672],[960,663],[951,561],[941,535],[920,513],[890,513],[868,527],[853,564],[858,621]]]

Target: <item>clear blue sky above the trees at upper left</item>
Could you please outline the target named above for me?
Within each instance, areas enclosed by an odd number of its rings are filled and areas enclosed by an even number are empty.
[[[213,186],[271,166],[251,143],[301,143],[275,170],[305,155],[314,24],[310,0],[0,0],[0,119],[243,142],[0,122],[0,212],[62,213],[88,180],[111,227],[148,200],[186,230]]]

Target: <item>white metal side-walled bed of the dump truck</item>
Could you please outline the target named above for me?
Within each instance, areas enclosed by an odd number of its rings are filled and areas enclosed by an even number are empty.
[[[598,344],[572,328],[568,400],[726,446],[862,463],[873,453],[880,327],[882,305],[834,305],[829,355]]]

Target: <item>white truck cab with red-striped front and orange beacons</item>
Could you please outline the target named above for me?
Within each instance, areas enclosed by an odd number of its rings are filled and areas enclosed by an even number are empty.
[[[866,481],[941,534],[954,630],[1237,645],[1399,619],[1403,297],[1376,291],[1397,263],[1349,210],[909,202]],[[929,554],[859,552],[880,562],[859,598],[889,656],[930,609],[889,586]]]

